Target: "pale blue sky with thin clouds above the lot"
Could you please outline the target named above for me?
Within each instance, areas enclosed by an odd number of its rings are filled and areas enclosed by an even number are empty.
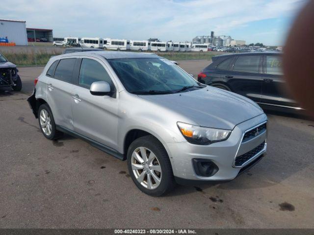
[[[230,35],[282,46],[305,0],[1,0],[0,18],[53,29],[53,37],[192,41]],[[14,7],[13,7],[14,6]]]

